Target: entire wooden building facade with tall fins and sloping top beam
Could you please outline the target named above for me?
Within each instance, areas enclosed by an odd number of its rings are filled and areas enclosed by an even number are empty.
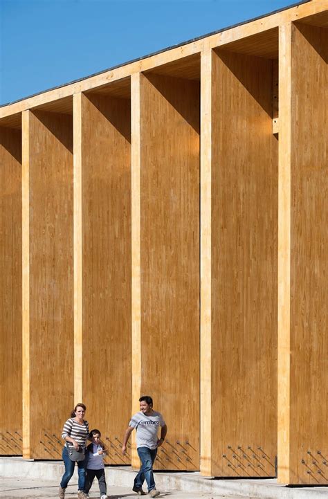
[[[0,108],[0,455],[328,483],[328,1]]]

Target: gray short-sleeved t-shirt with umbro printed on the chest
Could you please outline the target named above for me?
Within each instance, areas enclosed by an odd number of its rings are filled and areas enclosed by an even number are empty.
[[[151,416],[146,416],[143,412],[136,412],[136,414],[131,417],[129,426],[131,426],[131,428],[136,428],[137,448],[156,448],[158,428],[164,425],[165,421],[160,412],[154,410]]]

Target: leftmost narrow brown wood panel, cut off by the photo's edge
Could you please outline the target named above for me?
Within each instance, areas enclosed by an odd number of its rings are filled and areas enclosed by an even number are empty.
[[[0,127],[0,454],[21,454],[21,130]]]

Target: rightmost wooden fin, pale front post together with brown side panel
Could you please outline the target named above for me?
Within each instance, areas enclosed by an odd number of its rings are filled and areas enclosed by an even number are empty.
[[[280,28],[278,480],[327,484],[328,30]]]

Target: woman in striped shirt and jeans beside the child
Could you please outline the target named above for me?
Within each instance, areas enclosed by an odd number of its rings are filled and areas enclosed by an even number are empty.
[[[83,452],[85,453],[85,442],[89,435],[89,424],[88,421],[85,421],[84,414],[86,411],[86,406],[84,403],[78,403],[74,410],[71,412],[71,417],[67,419],[64,424],[62,437],[66,441],[64,445],[62,458],[65,465],[65,473],[62,477],[62,481],[60,482],[60,490],[58,492],[58,496],[61,499],[65,497],[65,490],[69,480],[74,473],[75,461],[71,461],[69,457],[69,448],[74,447],[76,451],[78,451],[79,447],[82,447]],[[84,484],[85,484],[85,464],[83,461],[78,462],[78,499],[86,498],[86,494],[84,493]]]

